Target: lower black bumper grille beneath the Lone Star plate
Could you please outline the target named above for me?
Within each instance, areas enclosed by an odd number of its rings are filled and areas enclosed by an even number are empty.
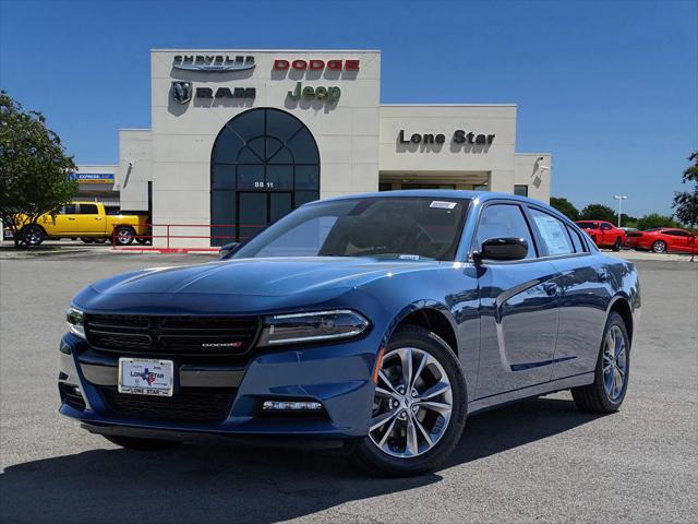
[[[121,416],[140,420],[219,424],[228,417],[234,390],[182,388],[172,396],[119,393],[99,388],[107,407]]]

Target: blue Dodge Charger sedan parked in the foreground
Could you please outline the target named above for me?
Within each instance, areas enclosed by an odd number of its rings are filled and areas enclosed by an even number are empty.
[[[580,409],[618,409],[639,311],[635,266],[540,202],[342,196],[219,261],[80,291],[60,412],[129,449],[300,440],[413,475],[482,409],[559,390]]]

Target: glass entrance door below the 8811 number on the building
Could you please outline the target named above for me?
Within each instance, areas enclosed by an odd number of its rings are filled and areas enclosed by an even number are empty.
[[[293,209],[293,193],[238,191],[237,238],[243,242]]]

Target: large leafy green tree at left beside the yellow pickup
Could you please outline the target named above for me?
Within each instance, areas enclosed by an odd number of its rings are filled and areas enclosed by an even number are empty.
[[[74,170],[73,158],[44,116],[0,91],[0,219],[15,246],[24,243],[23,228],[70,202],[77,190],[70,179]]]

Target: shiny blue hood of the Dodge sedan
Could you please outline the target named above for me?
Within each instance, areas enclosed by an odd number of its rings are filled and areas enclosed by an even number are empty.
[[[437,262],[359,258],[241,259],[155,267],[106,278],[91,287],[106,295],[206,294],[278,297],[323,288],[353,288],[375,278]]]

